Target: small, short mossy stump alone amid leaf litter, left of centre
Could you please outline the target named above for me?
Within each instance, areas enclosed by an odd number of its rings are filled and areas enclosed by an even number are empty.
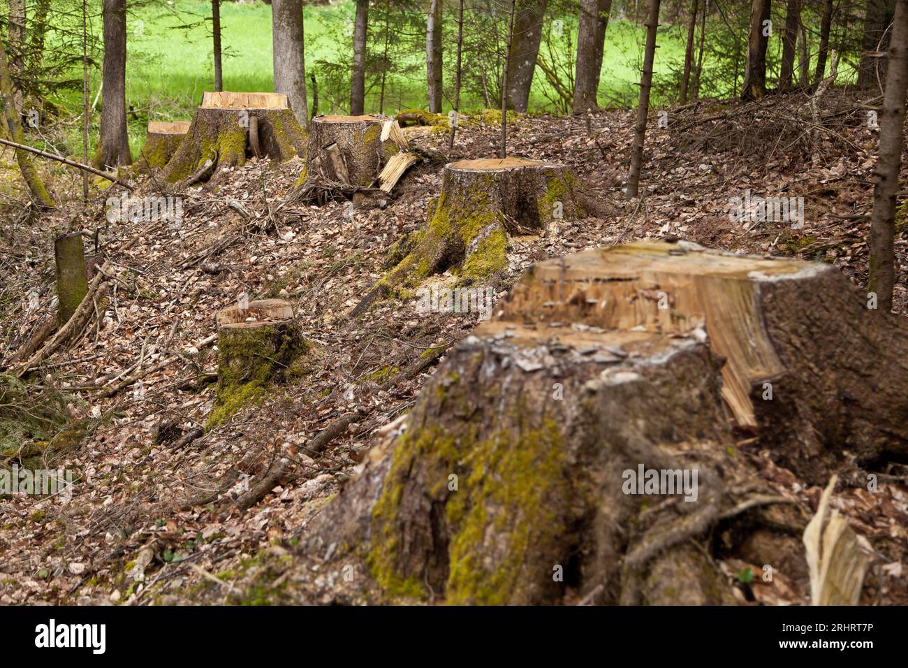
[[[263,299],[237,304],[217,314],[218,386],[208,426],[221,424],[265,389],[301,374],[309,349],[290,303]]]

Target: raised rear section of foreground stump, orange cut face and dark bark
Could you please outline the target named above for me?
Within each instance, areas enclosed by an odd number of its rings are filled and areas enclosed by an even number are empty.
[[[537,264],[500,307],[505,321],[543,327],[702,329],[725,357],[736,424],[821,484],[846,450],[908,455],[908,324],[867,303],[828,264],[625,244]]]

